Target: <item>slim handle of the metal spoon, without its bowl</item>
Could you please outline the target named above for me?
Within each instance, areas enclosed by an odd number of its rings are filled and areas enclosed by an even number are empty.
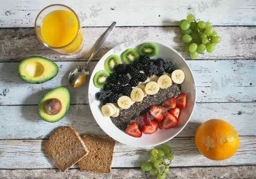
[[[91,59],[94,57],[94,55],[99,51],[99,49],[103,46],[103,43],[109,38],[109,36],[112,33],[115,26],[116,26],[116,22],[113,22],[111,24],[111,26],[95,42],[95,44],[92,48],[92,54],[91,54],[90,58],[87,61],[87,65],[91,61]]]

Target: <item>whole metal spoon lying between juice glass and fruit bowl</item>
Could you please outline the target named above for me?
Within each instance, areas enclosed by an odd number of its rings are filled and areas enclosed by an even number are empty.
[[[116,22],[113,22],[111,26],[99,37],[99,39],[95,42],[94,46],[92,47],[92,54],[90,58],[87,60],[86,64],[77,66],[73,69],[69,74],[69,83],[73,87],[80,87],[86,83],[87,75],[90,74],[88,64],[94,55],[99,51],[102,47],[103,43],[109,38],[111,32],[116,26]]]

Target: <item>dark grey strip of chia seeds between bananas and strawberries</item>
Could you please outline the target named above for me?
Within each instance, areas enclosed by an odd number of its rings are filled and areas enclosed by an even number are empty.
[[[162,104],[164,101],[177,97],[181,93],[181,86],[173,84],[166,89],[160,89],[155,95],[147,95],[141,102],[134,103],[128,109],[120,110],[118,117],[110,117],[112,122],[121,130],[125,130],[127,125],[133,122],[141,114],[145,113],[151,106]]]

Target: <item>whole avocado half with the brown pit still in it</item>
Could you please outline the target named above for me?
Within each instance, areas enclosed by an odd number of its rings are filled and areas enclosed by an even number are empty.
[[[38,104],[38,115],[47,122],[57,122],[67,114],[69,106],[69,89],[57,87],[42,97]]]

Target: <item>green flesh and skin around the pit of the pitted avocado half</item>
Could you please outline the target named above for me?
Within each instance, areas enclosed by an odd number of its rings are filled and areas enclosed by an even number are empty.
[[[45,103],[49,99],[58,99],[61,102],[61,110],[56,115],[49,115],[45,110]],[[38,115],[47,122],[57,122],[68,112],[70,106],[70,92],[66,87],[57,87],[45,94],[38,104]]]

